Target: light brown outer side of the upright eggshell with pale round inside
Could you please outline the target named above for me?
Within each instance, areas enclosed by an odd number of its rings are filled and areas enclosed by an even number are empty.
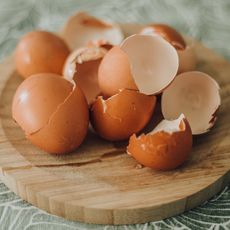
[[[113,47],[102,59],[98,69],[98,83],[106,96],[113,96],[120,89],[137,89],[129,59],[118,46]]]

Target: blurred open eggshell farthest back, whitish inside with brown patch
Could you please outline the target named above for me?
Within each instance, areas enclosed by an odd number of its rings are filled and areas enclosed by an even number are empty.
[[[62,36],[72,50],[85,46],[91,40],[104,40],[118,45],[124,39],[118,25],[104,22],[85,12],[69,18]]]

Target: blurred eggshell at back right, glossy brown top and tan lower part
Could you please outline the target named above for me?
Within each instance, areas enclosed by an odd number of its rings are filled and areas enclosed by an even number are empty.
[[[175,47],[179,56],[178,73],[196,69],[197,57],[194,42],[191,39],[183,38],[174,28],[165,24],[152,24],[143,28],[140,34],[161,36]]]

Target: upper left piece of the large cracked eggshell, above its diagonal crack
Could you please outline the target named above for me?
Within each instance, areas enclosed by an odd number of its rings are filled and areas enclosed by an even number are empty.
[[[12,115],[26,134],[34,133],[47,124],[73,88],[69,81],[59,75],[45,75],[45,79],[42,79],[44,74],[35,74],[26,79],[14,95]]]

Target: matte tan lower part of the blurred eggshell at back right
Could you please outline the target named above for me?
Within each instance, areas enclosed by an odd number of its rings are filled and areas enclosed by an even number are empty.
[[[193,71],[197,66],[197,56],[195,53],[194,43],[191,40],[186,40],[187,45],[183,50],[177,50],[179,57],[178,73]]]

